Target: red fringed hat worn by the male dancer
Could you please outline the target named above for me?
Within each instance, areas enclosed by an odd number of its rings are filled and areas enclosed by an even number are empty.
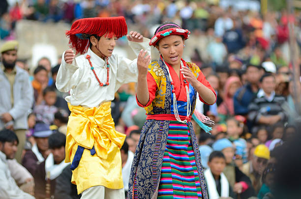
[[[85,54],[88,51],[90,36],[113,35],[120,38],[127,34],[127,26],[124,17],[95,17],[76,20],[70,30],[66,31],[69,46],[76,53]]]

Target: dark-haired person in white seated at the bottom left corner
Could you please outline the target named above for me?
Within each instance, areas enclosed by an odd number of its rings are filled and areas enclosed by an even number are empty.
[[[18,143],[18,137],[13,131],[8,129],[0,131],[0,197],[2,199],[34,199],[18,187],[7,165],[7,159],[14,159]]]

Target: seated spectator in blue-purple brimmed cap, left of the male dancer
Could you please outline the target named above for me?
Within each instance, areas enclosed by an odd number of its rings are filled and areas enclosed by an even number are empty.
[[[50,151],[48,150],[48,137],[52,134],[49,125],[45,123],[37,123],[34,126],[33,138],[35,144],[31,150],[27,150],[22,160],[22,165],[30,171],[34,176],[35,170],[41,162],[43,162]]]

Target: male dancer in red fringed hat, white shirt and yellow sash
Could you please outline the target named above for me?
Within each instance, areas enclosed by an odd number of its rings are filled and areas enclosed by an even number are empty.
[[[125,135],[115,130],[111,101],[122,84],[137,82],[137,60],[112,55],[126,33],[123,17],[80,19],[66,32],[70,47],[82,55],[63,54],[56,85],[70,91],[65,160],[72,162],[71,181],[82,199],[124,197],[120,148]],[[137,56],[151,55],[149,39],[137,32],[127,38]]]

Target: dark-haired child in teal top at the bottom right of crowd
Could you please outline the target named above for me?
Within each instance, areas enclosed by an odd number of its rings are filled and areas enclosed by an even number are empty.
[[[262,187],[257,198],[263,199],[265,196],[271,195],[272,185],[274,183],[275,166],[269,164],[262,174]]]

